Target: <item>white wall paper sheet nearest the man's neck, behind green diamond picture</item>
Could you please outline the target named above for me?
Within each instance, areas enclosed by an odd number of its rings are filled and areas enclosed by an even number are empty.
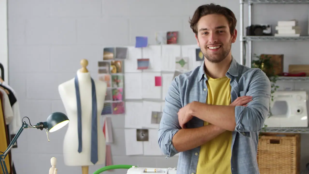
[[[189,71],[194,70],[196,67],[200,66],[203,61],[196,61],[196,49],[200,48],[197,45],[183,45],[181,46],[182,57],[188,57],[188,69]]]

